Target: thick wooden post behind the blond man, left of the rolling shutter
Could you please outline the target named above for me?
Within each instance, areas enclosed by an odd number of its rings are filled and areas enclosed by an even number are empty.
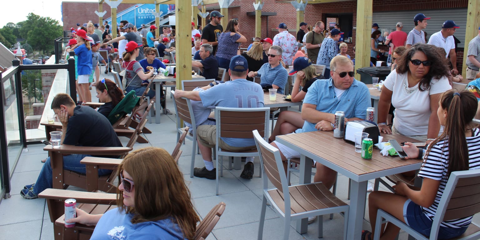
[[[357,28],[355,45],[355,68],[370,67],[370,36],[372,26],[372,1],[357,0]],[[325,24],[326,25],[326,24]],[[355,79],[360,81],[360,74],[356,73]]]

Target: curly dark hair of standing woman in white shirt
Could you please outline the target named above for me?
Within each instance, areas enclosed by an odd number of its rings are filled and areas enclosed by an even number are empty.
[[[400,58],[396,60],[398,64],[396,72],[408,72],[408,62],[412,59],[413,54],[418,51],[423,52],[427,56],[427,60],[432,62],[432,65],[430,65],[430,70],[427,72],[427,74],[423,76],[419,84],[419,90],[426,91],[430,89],[430,84],[433,78],[448,78],[449,70],[445,67],[447,65],[447,60],[445,56],[442,56],[439,53],[437,47],[430,44],[418,43],[413,45],[410,49],[408,49],[406,53],[404,53],[402,56],[400,56]]]

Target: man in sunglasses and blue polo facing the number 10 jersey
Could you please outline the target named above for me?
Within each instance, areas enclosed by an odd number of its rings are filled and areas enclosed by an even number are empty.
[[[282,66],[282,48],[279,46],[272,46],[268,50],[268,62],[258,70],[258,72],[249,72],[249,77],[260,77],[260,85],[262,88],[277,89],[277,93],[283,94],[285,92],[285,84],[287,84],[288,72]]]

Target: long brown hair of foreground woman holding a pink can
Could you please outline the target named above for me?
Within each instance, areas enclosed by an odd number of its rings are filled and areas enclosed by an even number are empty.
[[[172,218],[184,237],[193,239],[199,217],[193,209],[183,175],[165,149],[145,147],[132,151],[118,167],[119,182],[122,170],[127,171],[135,183],[135,206],[123,204],[120,190],[117,190],[117,205],[133,215],[133,224]]]

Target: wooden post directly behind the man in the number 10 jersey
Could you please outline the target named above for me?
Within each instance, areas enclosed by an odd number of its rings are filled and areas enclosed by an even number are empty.
[[[175,0],[177,89],[192,80],[192,0]]]

